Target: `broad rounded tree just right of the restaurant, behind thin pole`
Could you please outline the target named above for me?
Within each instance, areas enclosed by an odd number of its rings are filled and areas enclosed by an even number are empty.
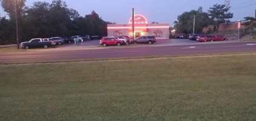
[[[193,22],[195,15],[195,33],[202,33],[203,28],[211,24],[211,19],[208,17],[208,13],[203,12],[203,8],[199,7],[198,10],[191,10],[179,15],[177,20],[174,21],[174,28],[176,33],[192,33]]]

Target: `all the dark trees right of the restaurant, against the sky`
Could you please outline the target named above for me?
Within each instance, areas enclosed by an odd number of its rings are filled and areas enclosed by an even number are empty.
[[[197,10],[186,11],[174,21],[174,29],[176,29],[176,33],[192,33],[195,18],[195,33],[202,33],[203,28],[209,25],[213,25],[214,30],[208,31],[208,33],[218,33],[220,25],[229,24],[231,22],[229,19],[233,18],[233,13],[229,11],[230,8],[224,4],[215,4],[209,8],[208,12],[204,12],[202,7]],[[252,36],[252,30],[256,28],[256,19],[249,16],[244,19],[245,22],[242,25],[245,25],[245,30],[248,30]]]

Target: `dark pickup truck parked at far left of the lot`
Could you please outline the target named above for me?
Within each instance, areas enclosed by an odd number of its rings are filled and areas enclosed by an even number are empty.
[[[21,42],[21,48],[25,48],[25,49],[29,49],[29,48],[33,48],[33,47],[48,48],[51,45],[54,45],[53,41],[44,41],[41,38],[31,39],[28,42]]]

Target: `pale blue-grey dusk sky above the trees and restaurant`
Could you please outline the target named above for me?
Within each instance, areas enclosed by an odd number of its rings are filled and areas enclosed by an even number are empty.
[[[33,2],[45,1],[51,3],[52,0],[27,0],[27,6],[32,6]],[[143,15],[148,23],[159,22],[160,24],[173,25],[177,16],[185,11],[197,10],[200,6],[203,11],[208,11],[214,4],[225,4],[226,0],[62,0],[78,11],[80,16],[85,16],[96,11],[104,20],[116,22],[117,24],[128,24],[132,16],[132,8],[135,14]],[[246,16],[255,16],[256,0],[230,0],[231,13],[234,18],[231,21],[243,20]],[[0,16],[8,16],[0,7]]]

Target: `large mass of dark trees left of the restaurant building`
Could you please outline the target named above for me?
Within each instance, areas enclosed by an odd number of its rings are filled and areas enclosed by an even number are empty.
[[[95,11],[80,16],[62,0],[34,2],[31,7],[26,0],[18,0],[19,38],[28,41],[31,38],[50,38],[52,36],[70,37],[73,35],[107,35],[107,24]],[[1,0],[2,8],[9,19],[0,18],[0,45],[16,43],[15,1]]]

